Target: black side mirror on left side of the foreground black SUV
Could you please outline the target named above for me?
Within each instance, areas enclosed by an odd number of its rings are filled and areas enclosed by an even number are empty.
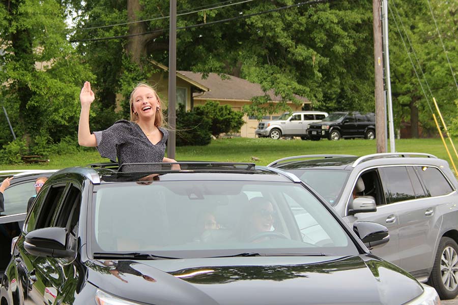
[[[25,235],[24,249],[35,256],[70,259],[76,255],[76,242],[66,228],[43,228]]]

